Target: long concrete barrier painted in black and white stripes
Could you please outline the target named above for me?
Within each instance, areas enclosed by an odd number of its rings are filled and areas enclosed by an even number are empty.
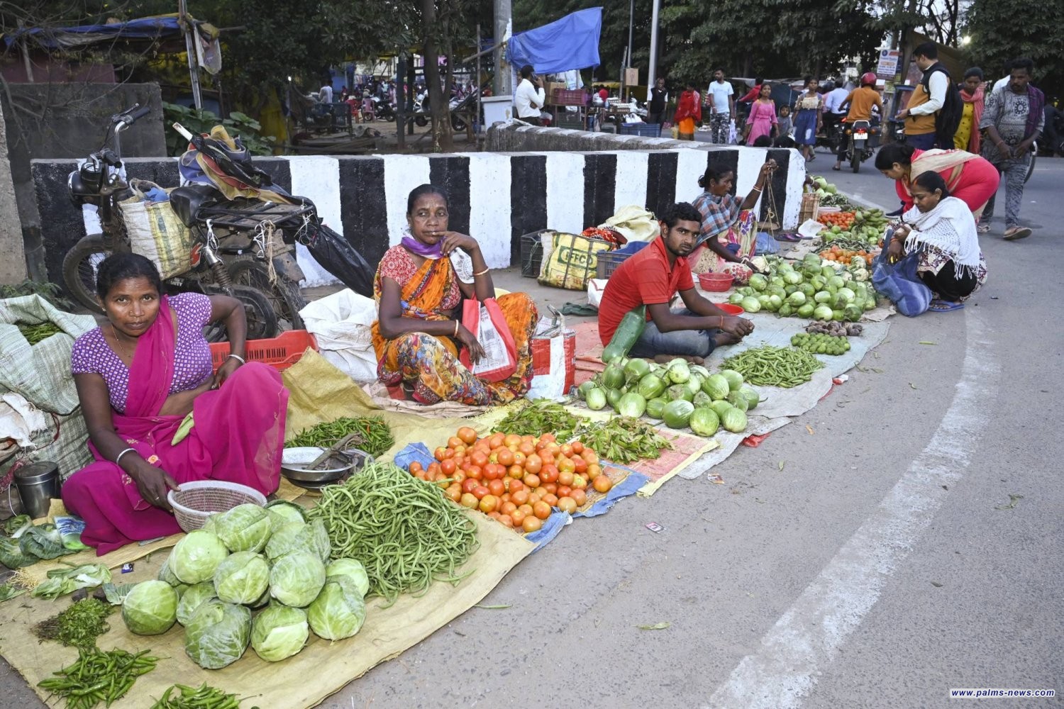
[[[627,136],[621,136],[624,139]],[[638,138],[646,141],[646,138]],[[656,139],[654,139],[656,140]],[[671,141],[668,141],[671,142]],[[674,144],[676,145],[676,144]],[[473,236],[487,265],[519,263],[520,236],[541,229],[581,232],[629,204],[652,212],[694,200],[708,166],[735,171],[745,195],[767,157],[780,164],[761,199],[763,218],[791,227],[801,206],[804,161],[794,150],[716,148],[596,152],[468,153],[461,155],[293,156],[256,159],[280,186],[314,200],[326,223],[342,233],[373,266],[399,242],[406,224],[406,196],[422,183],[450,195],[452,230]],[[74,207],[67,174],[76,161],[34,161],[49,278],[62,283],[63,256],[86,233],[99,232],[95,207]],[[129,178],[178,185],[173,158],[126,161]],[[772,199],[769,199],[772,198]],[[302,247],[305,286],[334,282]]]

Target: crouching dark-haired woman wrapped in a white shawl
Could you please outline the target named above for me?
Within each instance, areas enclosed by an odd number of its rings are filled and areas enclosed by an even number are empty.
[[[919,252],[916,273],[936,293],[928,309],[963,308],[964,301],[986,281],[976,220],[967,204],[950,197],[937,172],[918,175],[911,190],[915,206],[902,215],[901,225],[894,231],[887,259],[894,263]]]

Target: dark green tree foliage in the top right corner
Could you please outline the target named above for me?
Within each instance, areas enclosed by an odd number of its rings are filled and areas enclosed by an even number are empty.
[[[1064,5],[1032,5],[1026,0],[974,0],[966,32],[969,53],[987,79],[1010,60],[1034,61],[1034,83],[1050,96],[1064,94]]]

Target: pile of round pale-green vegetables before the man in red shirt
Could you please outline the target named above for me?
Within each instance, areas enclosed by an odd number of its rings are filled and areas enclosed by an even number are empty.
[[[620,357],[577,392],[592,410],[611,406],[621,416],[646,416],[669,428],[689,427],[698,436],[713,436],[720,428],[743,433],[746,412],[761,401],[761,394],[744,384],[738,372],[710,373],[681,358],[658,365]]]

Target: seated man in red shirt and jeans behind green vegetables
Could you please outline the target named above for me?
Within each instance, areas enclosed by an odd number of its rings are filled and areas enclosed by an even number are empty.
[[[613,272],[599,305],[602,344],[613,338],[625,314],[641,305],[647,306],[647,326],[629,353],[633,357],[704,358],[714,348],[753,332],[752,322],[729,316],[695,290],[686,257],[701,227],[702,216],[694,205],[674,204],[661,220],[661,237]],[[678,292],[686,307],[669,309]]]

